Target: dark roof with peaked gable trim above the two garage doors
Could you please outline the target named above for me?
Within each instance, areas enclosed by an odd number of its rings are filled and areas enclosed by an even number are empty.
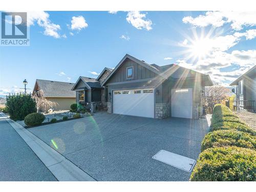
[[[165,66],[158,66],[156,64],[148,64],[143,60],[137,59],[129,54],[125,54],[125,56],[122,58],[122,60],[118,63],[118,65],[115,67],[115,69],[109,74],[108,77],[106,77],[106,79],[102,82],[102,86],[105,85],[105,83],[109,80],[109,78],[115,73],[115,71],[122,65],[123,61],[129,58],[133,61],[135,61],[136,63],[138,63],[139,65],[145,67],[148,70],[151,70],[152,72],[158,74],[159,76],[163,77],[164,79],[167,78],[172,78],[172,79],[180,79],[182,76],[184,76],[184,74],[186,74],[186,76],[184,78],[193,78],[195,77],[195,74],[200,74],[200,76],[204,77],[207,82],[206,82],[206,86],[212,86],[213,83],[209,77],[209,75],[203,74],[203,73],[199,73],[197,71],[194,70],[190,70],[175,64],[170,64],[170,65],[165,65]]]

